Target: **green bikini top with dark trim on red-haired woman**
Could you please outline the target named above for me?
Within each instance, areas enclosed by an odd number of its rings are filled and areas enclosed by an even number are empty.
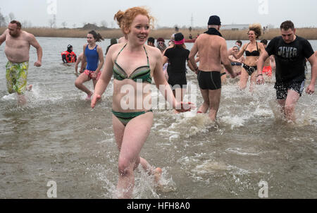
[[[127,46],[127,44],[125,44],[125,46]],[[120,50],[120,52],[118,53],[118,56],[121,53],[121,51],[123,51],[125,46]],[[147,54],[147,50],[145,49],[145,47],[143,48],[144,48],[145,54]],[[147,56],[147,66],[140,66],[136,68],[135,71],[133,71],[129,77],[127,73],[125,73],[123,68],[121,68],[118,65],[117,63],[118,56],[113,65],[113,78],[115,78],[116,80],[131,79],[131,80],[134,80],[135,82],[137,82],[137,80],[142,80],[142,83],[152,82],[151,69],[149,66],[149,56]]]

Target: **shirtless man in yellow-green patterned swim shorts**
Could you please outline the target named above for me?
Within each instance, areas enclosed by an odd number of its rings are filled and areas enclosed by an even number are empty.
[[[42,66],[42,47],[39,46],[35,36],[21,30],[20,22],[13,20],[8,29],[0,36],[0,45],[6,42],[4,53],[8,59],[6,63],[6,86],[9,93],[18,94],[18,104],[24,105],[26,99],[24,92],[30,90],[27,85],[27,69],[29,67],[30,45],[37,49],[37,61],[34,66]]]

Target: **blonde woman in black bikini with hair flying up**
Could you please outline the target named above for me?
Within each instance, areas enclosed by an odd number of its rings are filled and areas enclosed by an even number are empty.
[[[244,90],[247,87],[249,76],[251,76],[250,92],[253,91],[254,84],[256,83],[256,63],[259,60],[260,53],[265,50],[263,44],[256,41],[256,39],[259,39],[259,37],[261,36],[261,33],[261,25],[250,25],[248,32],[250,42],[248,44],[244,44],[238,54],[233,54],[233,56],[235,56],[235,59],[240,59],[244,52],[246,55],[240,75],[240,90]]]

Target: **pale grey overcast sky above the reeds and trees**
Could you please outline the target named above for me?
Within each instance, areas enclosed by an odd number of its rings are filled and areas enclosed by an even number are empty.
[[[4,16],[12,12],[21,22],[27,20],[32,26],[47,27],[53,17],[49,11],[54,11],[54,1],[57,27],[64,21],[73,28],[82,27],[83,23],[100,25],[102,20],[110,28],[117,27],[114,14],[132,6],[147,6],[156,18],[156,26],[161,27],[189,27],[192,16],[194,26],[205,27],[214,14],[220,16],[223,25],[261,23],[278,27],[282,21],[292,20],[297,28],[317,27],[316,0],[6,0],[0,8]]]

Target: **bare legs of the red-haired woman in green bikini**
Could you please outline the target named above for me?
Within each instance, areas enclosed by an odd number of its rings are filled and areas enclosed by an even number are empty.
[[[158,180],[161,175],[161,169],[154,169],[146,159],[139,157],[144,142],[149,136],[153,123],[153,113],[148,112],[141,116],[133,118],[127,126],[113,116],[113,132],[118,145],[118,198],[131,198],[135,185],[134,170],[139,164],[147,171],[149,175],[154,175]]]

